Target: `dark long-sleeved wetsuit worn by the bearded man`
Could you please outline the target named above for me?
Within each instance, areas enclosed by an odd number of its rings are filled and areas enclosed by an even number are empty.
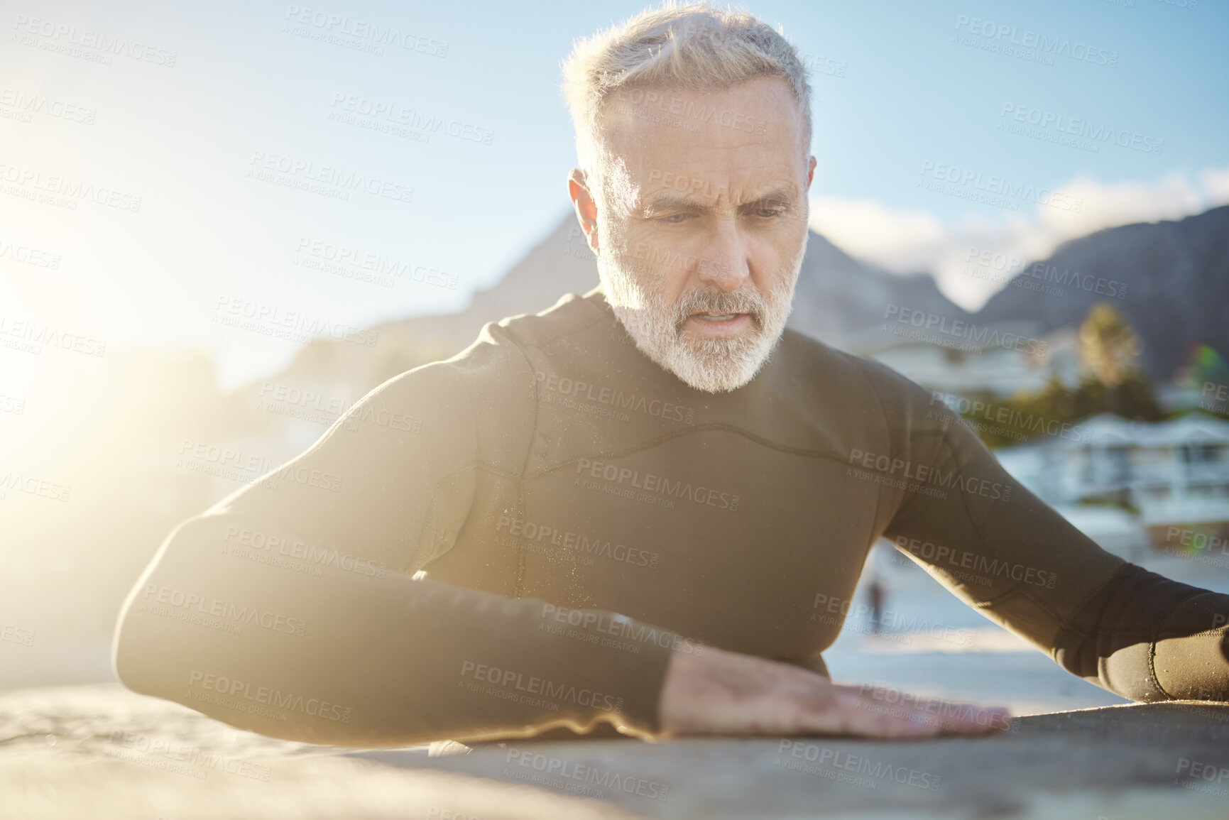
[[[392,379],[179,526],[117,670],[316,743],[653,733],[676,648],[823,671],[879,537],[1075,675],[1229,698],[1229,596],[1099,548],[927,390],[787,331],[701,392],[600,289]]]

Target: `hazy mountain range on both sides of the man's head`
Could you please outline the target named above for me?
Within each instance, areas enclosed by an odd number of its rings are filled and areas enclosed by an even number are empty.
[[[1110,283],[1116,283],[1112,291]],[[487,322],[546,310],[563,294],[585,293],[596,284],[594,254],[569,213],[500,282],[477,291],[463,311],[381,325],[374,349],[317,339],[277,379],[328,382],[334,392],[356,398],[398,373],[462,350]],[[1026,284],[1057,290],[1039,293]],[[1120,291],[1122,299],[1112,295]],[[951,302],[929,274],[887,273],[810,232],[789,326],[834,347],[868,352],[900,341],[880,328],[885,320],[895,326],[902,310],[949,323],[1023,326],[1041,336],[1078,326],[1101,300],[1129,318],[1143,342],[1144,366],[1156,380],[1170,380],[1200,343],[1229,352],[1229,207],[1067,242],[1048,259],[1029,264],[977,313]]]

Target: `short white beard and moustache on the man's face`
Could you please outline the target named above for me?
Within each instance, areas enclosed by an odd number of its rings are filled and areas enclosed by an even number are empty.
[[[803,266],[804,246],[789,268],[783,269],[764,299],[750,279],[734,291],[702,286],[685,291],[677,304],[669,304],[659,288],[639,282],[611,259],[597,257],[606,300],[635,347],[659,366],[696,390],[729,392],[750,382],[785,329],[794,300],[794,285]],[[660,282],[650,272],[649,279]],[[732,338],[697,338],[687,332],[687,317],[697,312],[748,313],[755,328]]]

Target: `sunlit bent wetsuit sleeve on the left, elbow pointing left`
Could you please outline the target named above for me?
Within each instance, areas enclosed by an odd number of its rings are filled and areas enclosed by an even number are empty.
[[[669,648],[575,639],[623,616],[573,612],[565,638],[544,601],[412,577],[472,514],[479,416],[522,398],[477,406],[473,375],[451,361],[386,382],[310,450],[172,532],[120,613],[120,680],[320,744],[656,731]]]

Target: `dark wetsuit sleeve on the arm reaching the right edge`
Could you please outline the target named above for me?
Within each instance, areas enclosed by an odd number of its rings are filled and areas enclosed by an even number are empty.
[[[892,374],[884,532],[956,596],[1136,701],[1229,700],[1229,596],[1105,552],[1011,478],[936,395]]]

